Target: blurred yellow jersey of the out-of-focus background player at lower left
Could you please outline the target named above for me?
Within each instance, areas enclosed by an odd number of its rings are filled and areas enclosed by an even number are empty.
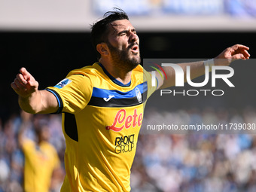
[[[58,154],[48,142],[25,139],[22,145],[24,166],[24,188],[26,192],[48,192],[53,170],[60,166]]]

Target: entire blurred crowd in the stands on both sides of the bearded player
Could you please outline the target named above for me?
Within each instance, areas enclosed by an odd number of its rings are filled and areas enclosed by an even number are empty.
[[[256,130],[247,134],[190,133],[147,130],[148,124],[256,123],[254,108],[186,111],[154,111],[147,108],[135,161],[133,192],[253,192],[256,191]],[[20,127],[26,137],[35,137],[34,127],[47,123],[50,143],[62,161],[62,172],[53,175],[50,192],[57,192],[65,175],[65,140],[61,116],[56,114],[12,115],[0,118],[0,192],[23,191],[23,151],[18,143]]]

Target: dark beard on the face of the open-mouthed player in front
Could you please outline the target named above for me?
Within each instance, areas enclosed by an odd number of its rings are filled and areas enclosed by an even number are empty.
[[[122,70],[123,72],[130,72],[136,68],[141,62],[139,53],[133,54],[132,58],[129,57],[129,50],[133,45],[130,44],[126,50],[118,50],[116,47],[112,46],[109,42],[107,43],[108,49],[111,52],[112,64],[114,67]]]

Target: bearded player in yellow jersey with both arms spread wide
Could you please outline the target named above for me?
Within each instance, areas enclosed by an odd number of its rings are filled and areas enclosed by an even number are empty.
[[[175,73],[164,68],[167,78],[157,76],[157,87],[151,86],[151,74],[139,65],[139,37],[122,10],[106,13],[91,34],[99,59],[93,66],[73,70],[46,90],[38,90],[38,82],[22,68],[11,87],[23,110],[62,113],[66,178],[61,191],[130,191],[144,104],[157,88],[174,85]],[[206,65],[248,59],[247,50],[236,44],[210,62],[179,65],[190,66],[191,78],[196,78]]]

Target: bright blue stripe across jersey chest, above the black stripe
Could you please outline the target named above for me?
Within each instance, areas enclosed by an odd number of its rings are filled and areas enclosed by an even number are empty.
[[[137,85],[141,93],[145,93],[148,90],[147,82]],[[119,90],[105,90],[97,87],[93,87],[93,97],[108,98],[108,96],[114,96],[114,99],[133,98],[136,96],[136,87],[128,92],[122,92]]]

